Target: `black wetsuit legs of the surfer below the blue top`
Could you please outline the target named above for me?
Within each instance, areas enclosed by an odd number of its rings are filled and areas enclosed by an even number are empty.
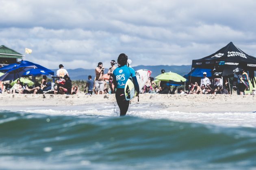
[[[117,89],[115,92],[115,98],[120,109],[120,116],[125,116],[129,108],[129,102],[125,99],[124,89]]]

